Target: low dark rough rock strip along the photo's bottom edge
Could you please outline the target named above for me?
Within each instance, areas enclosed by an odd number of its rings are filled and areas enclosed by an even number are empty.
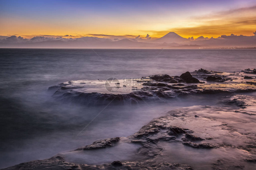
[[[165,170],[165,169],[191,169],[189,165],[180,163],[155,163],[152,166],[145,166],[139,162],[132,161],[114,161],[110,164],[101,166],[75,164],[65,162],[63,158],[50,158],[45,160],[36,160],[26,163],[21,163],[15,166],[8,167],[3,170]]]

